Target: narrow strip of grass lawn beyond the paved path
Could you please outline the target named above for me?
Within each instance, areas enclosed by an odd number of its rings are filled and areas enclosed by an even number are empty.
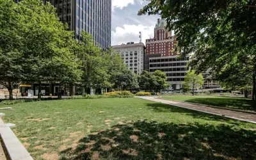
[[[256,111],[256,101],[237,97],[220,96],[198,96],[198,95],[163,95],[162,99],[179,100],[197,104],[207,104],[223,108],[243,109],[246,111]]]

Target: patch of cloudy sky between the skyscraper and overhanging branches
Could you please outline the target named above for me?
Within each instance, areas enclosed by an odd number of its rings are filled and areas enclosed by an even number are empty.
[[[153,38],[159,15],[137,15],[147,3],[143,0],[112,0],[111,45],[139,42],[140,31],[144,44],[145,39]]]

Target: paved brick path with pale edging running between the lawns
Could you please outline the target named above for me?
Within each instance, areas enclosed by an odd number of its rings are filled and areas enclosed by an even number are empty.
[[[177,102],[172,100],[156,99],[156,97],[140,97],[141,99],[152,100],[154,102],[161,102],[163,104],[170,104],[172,106],[177,106],[180,108],[187,108],[195,111],[200,111],[204,113],[210,113],[212,115],[225,116],[227,118],[232,118],[236,120],[243,120],[245,122],[250,122],[256,124],[256,115],[250,113],[243,113],[240,111],[230,111],[228,109],[211,108],[204,105],[189,104],[185,102]]]

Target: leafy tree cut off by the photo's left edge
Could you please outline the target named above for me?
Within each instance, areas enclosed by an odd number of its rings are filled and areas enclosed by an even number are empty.
[[[22,26],[12,0],[0,0],[0,84],[8,88],[13,99],[13,89],[24,78],[22,68]]]

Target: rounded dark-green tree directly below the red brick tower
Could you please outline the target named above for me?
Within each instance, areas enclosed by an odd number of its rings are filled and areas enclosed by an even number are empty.
[[[167,76],[164,72],[162,72],[161,70],[156,70],[153,73],[153,88],[154,90],[156,90],[157,92],[163,90],[164,88],[168,88],[169,84],[167,82]]]

